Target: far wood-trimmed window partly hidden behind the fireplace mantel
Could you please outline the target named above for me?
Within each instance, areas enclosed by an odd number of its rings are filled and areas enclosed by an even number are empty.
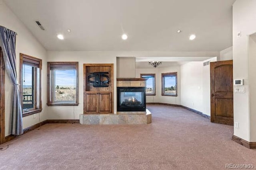
[[[156,96],[156,74],[140,74],[140,78],[147,78],[146,80],[146,95]]]

